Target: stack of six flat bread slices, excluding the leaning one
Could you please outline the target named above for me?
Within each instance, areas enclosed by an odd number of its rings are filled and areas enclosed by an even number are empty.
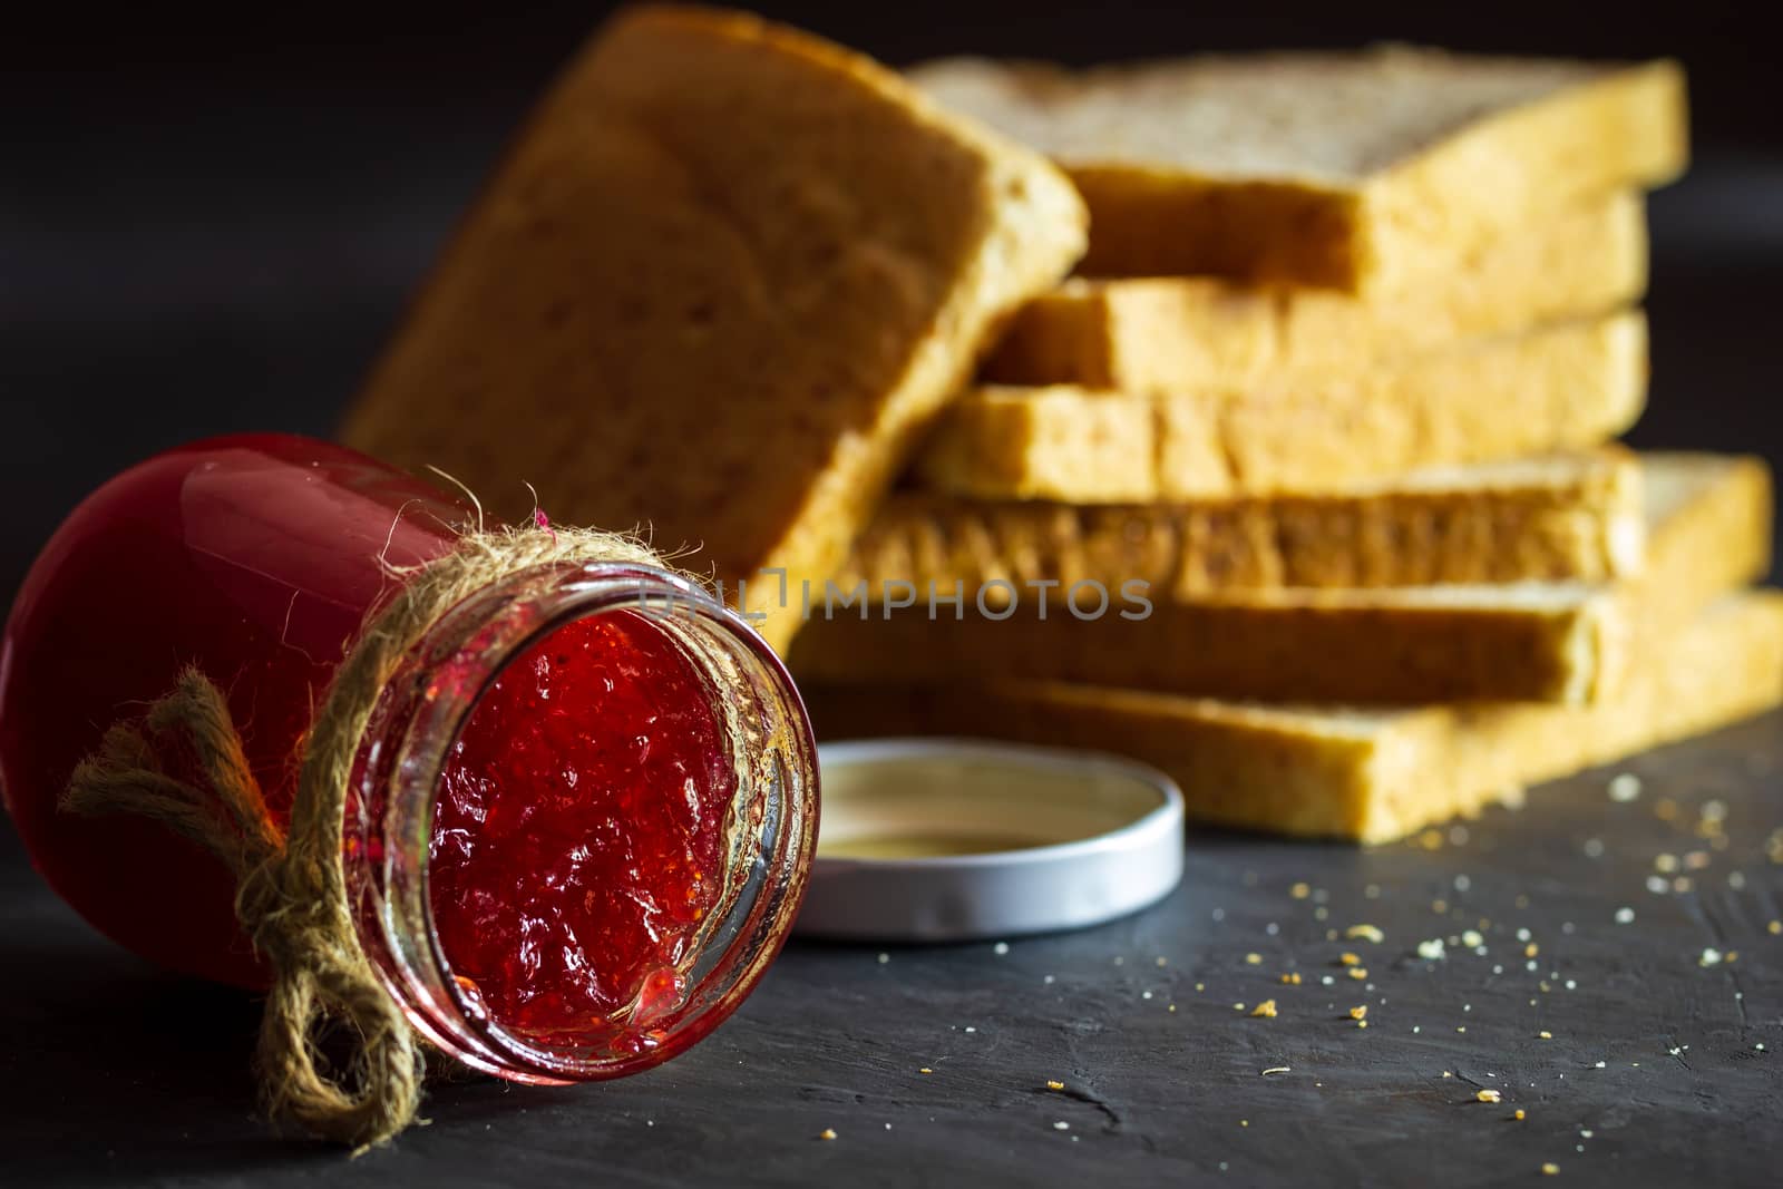
[[[1765,467],[1610,444],[1676,66],[913,78],[1052,157],[1089,248],[797,636],[820,731],[1100,747],[1202,818],[1380,841],[1783,699],[1783,597],[1735,594]]]

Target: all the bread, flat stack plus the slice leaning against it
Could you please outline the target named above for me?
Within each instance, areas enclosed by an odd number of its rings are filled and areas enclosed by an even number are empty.
[[[1608,446],[1683,164],[1665,62],[900,77],[628,7],[344,437],[651,533],[820,734],[1132,752],[1204,818],[1393,838],[1783,697],[1783,604],[1733,594],[1763,467]]]

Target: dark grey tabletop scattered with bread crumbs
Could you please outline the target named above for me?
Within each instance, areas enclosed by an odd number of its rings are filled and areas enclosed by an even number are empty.
[[[1606,795],[1624,770],[1644,783],[1628,804]],[[1699,832],[1717,802],[1724,843]],[[0,1152],[12,1184],[1500,1185],[1549,1160],[1565,1184],[1774,1184],[1779,829],[1771,715],[1549,786],[1434,849],[1196,834],[1184,886],[1134,918],[1006,954],[795,945],[669,1068],[439,1087],[431,1127],[351,1162],[251,1116],[251,1002],[148,970],[11,861]],[[1651,891],[1658,856],[1678,870]],[[1344,939],[1357,923],[1385,939]],[[1464,929],[1483,955],[1417,957]],[[1705,948],[1728,957],[1703,966]],[[1264,998],[1278,1014],[1252,1018]]]

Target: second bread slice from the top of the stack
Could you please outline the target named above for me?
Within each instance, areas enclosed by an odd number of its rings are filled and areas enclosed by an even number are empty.
[[[979,374],[1125,392],[1360,374],[1471,337],[1605,314],[1637,301],[1646,278],[1640,196],[1624,191],[1482,244],[1400,298],[1205,276],[1070,280],[1022,307]]]

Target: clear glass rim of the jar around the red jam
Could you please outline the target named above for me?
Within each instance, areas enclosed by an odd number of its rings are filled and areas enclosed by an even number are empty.
[[[455,977],[430,895],[440,777],[494,681],[526,649],[592,617],[640,615],[699,672],[720,715],[736,793],[726,881],[678,963],[679,995],[544,1039],[503,1023]],[[804,895],[817,840],[817,756],[785,665],[699,586],[638,565],[522,570],[460,603],[385,683],[348,797],[349,902],[373,968],[410,1021],[465,1064],[522,1082],[579,1082],[660,1064],[710,1034],[754,989]]]

